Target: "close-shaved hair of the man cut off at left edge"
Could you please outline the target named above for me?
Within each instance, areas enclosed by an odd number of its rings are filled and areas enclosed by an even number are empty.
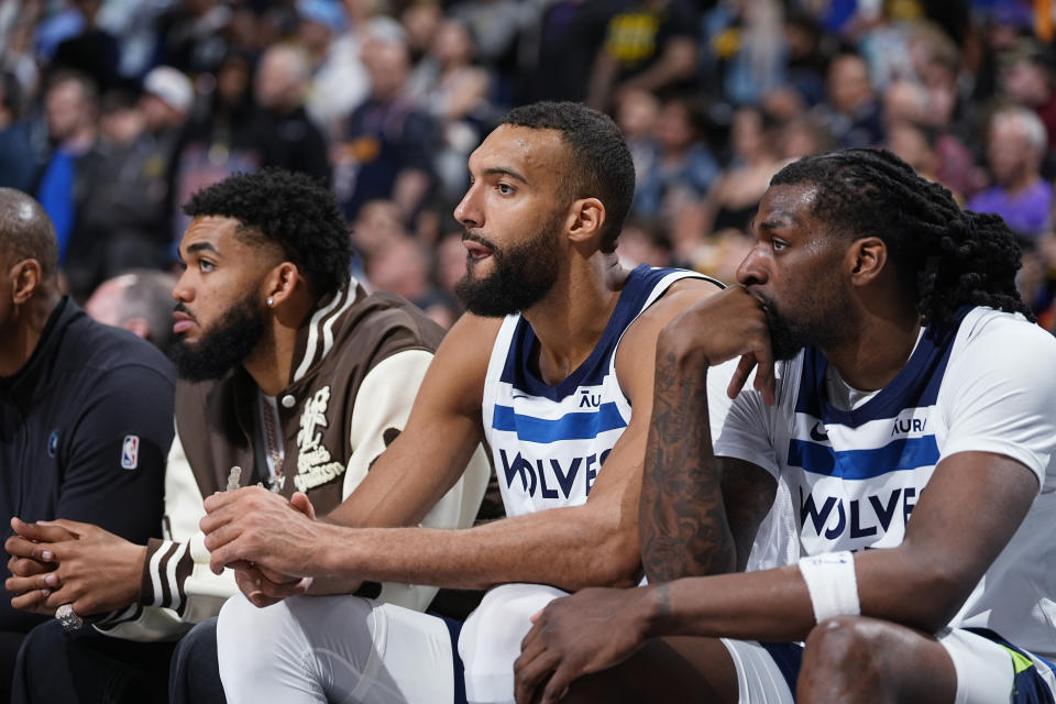
[[[0,253],[9,264],[36,260],[45,280],[58,273],[52,219],[32,196],[14,188],[0,188]]]

